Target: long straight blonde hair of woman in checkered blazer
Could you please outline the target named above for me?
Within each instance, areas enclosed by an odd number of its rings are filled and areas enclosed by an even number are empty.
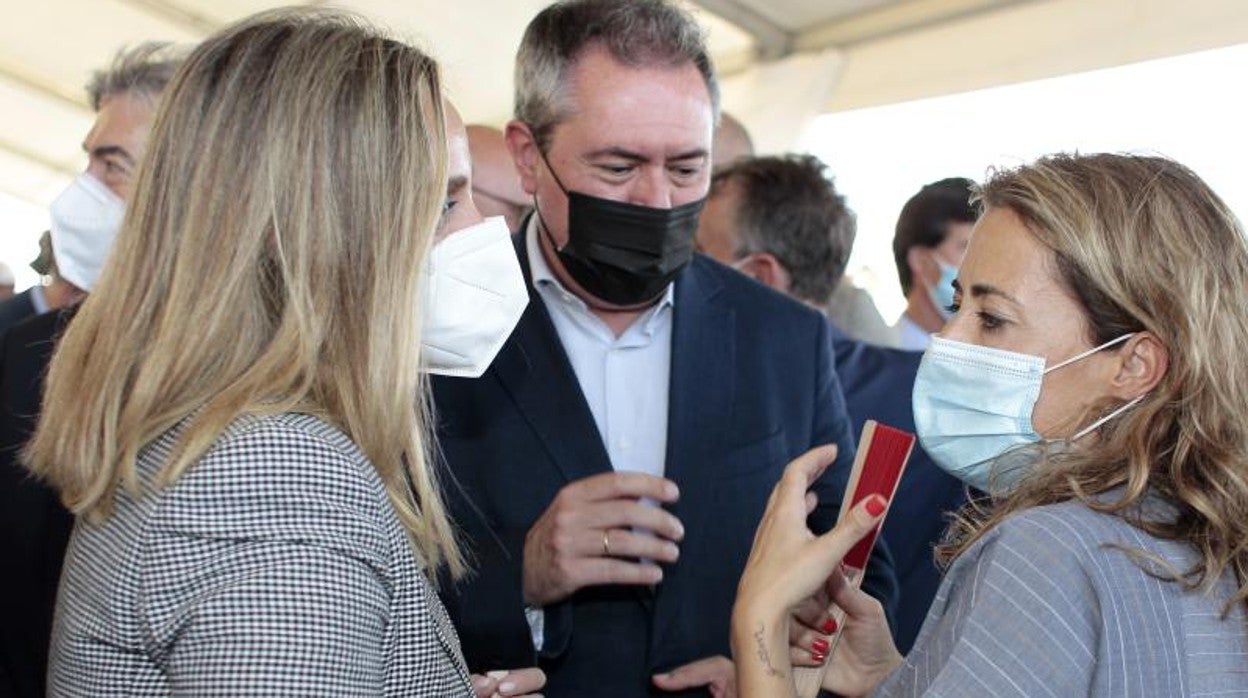
[[[109,516],[242,415],[302,412],[377,468],[431,569],[464,563],[428,455],[421,273],[447,187],[437,64],[359,20],[278,10],[201,44],[163,94],[112,258],[60,342],[26,461]]]

